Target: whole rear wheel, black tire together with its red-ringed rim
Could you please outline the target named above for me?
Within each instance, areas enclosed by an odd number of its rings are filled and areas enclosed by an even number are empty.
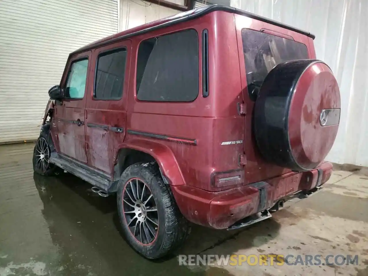
[[[190,233],[189,222],[180,213],[156,162],[132,164],[123,172],[117,207],[125,238],[145,258],[158,259],[173,252]]]

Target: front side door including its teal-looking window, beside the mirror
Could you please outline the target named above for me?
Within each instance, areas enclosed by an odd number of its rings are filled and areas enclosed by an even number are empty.
[[[91,51],[72,57],[61,80],[62,102],[56,101],[52,134],[57,152],[87,163],[84,112]]]

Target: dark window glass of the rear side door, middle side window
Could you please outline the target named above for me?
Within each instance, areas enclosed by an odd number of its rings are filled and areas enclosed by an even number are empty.
[[[98,56],[93,95],[95,99],[113,100],[121,98],[126,59],[126,49],[105,52]]]

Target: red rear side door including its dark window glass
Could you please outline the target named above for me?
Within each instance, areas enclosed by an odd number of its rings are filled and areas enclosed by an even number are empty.
[[[88,164],[110,173],[117,145],[125,137],[128,69],[131,41],[100,47],[93,52],[86,105]]]

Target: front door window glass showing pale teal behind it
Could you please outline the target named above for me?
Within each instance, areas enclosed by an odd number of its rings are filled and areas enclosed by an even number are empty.
[[[73,61],[68,73],[66,87],[64,92],[65,98],[81,99],[86,89],[88,59]]]

